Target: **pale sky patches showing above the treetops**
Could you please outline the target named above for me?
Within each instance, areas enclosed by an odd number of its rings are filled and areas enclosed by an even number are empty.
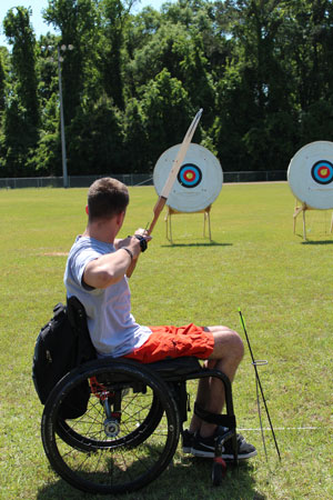
[[[139,0],[138,6],[133,8],[132,12],[140,12],[141,9],[148,6],[151,6],[154,9],[159,10],[162,3],[164,3],[165,1],[167,0]],[[8,44],[3,33],[2,22],[9,9],[18,6],[31,8],[32,16],[30,18],[30,22],[33,27],[37,39],[39,39],[41,34],[46,34],[48,31],[54,32],[52,27],[49,27],[47,23],[44,23],[42,19],[41,11],[48,7],[48,0],[0,0],[0,46],[6,46],[10,49],[10,46]]]

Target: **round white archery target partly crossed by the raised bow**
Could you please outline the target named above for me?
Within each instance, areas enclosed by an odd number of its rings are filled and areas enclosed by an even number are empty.
[[[153,172],[154,188],[160,196],[181,144],[161,154]],[[180,212],[196,212],[209,207],[219,196],[223,171],[218,158],[202,146],[191,143],[167,204]]]

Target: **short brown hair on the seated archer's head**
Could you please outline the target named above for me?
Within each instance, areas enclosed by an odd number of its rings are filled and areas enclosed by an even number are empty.
[[[89,221],[112,219],[125,211],[129,201],[129,190],[125,184],[111,177],[98,179],[88,191]]]

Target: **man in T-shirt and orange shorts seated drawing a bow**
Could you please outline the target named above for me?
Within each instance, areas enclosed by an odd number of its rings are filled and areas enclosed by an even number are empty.
[[[243,343],[235,331],[223,326],[143,327],[135,322],[128,278],[151,237],[139,229],[134,236],[117,239],[128,203],[128,189],[115,179],[103,178],[92,183],[85,208],[88,226],[77,237],[64,272],[68,297],[75,296],[84,306],[98,357],[152,363],[190,356],[205,360],[206,368],[221,370],[232,381],[243,357]],[[200,379],[195,402],[204,412],[220,414],[224,404],[221,380]],[[183,451],[213,458],[215,441],[225,433],[225,428],[204,421],[196,413],[183,432]],[[239,460],[255,454],[255,448],[238,436]],[[226,441],[222,458],[232,457],[231,441]]]

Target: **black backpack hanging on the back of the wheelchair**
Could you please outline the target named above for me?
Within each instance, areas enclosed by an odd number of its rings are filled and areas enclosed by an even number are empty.
[[[53,318],[41,329],[36,341],[32,361],[32,380],[42,404],[46,404],[54,386],[73,368],[95,358],[81,302],[71,297],[68,304],[58,303]],[[88,381],[82,382],[64,399],[61,417],[81,417],[89,400]]]

